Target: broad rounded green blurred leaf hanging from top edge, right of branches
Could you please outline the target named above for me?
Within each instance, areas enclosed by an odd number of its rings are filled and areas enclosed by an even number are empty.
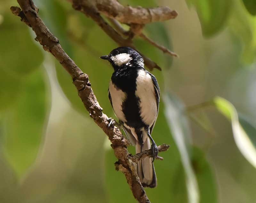
[[[187,0],[188,6],[193,4],[202,26],[205,37],[211,37],[225,25],[233,1],[223,0]]]

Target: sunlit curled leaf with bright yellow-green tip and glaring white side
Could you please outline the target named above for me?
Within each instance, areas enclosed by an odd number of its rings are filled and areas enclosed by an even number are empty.
[[[256,168],[256,128],[244,118],[238,118],[235,107],[229,101],[221,97],[216,97],[213,103],[220,113],[231,122],[238,149]],[[241,123],[239,121],[241,121]]]

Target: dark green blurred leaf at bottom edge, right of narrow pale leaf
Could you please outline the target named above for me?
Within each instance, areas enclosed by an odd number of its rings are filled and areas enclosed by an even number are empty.
[[[200,191],[200,203],[217,203],[217,185],[210,164],[205,154],[197,147],[193,147],[192,166]]]

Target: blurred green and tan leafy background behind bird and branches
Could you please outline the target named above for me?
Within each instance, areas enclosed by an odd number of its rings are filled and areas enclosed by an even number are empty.
[[[107,96],[113,70],[99,56],[116,43],[68,1],[34,2],[68,55],[89,74],[104,113],[115,117]],[[164,161],[155,161],[158,186],[146,189],[151,202],[255,203],[255,1],[120,2],[166,5],[179,13],[144,30],[179,58],[134,40],[162,67],[152,71],[162,93],[152,136],[159,145],[171,145],[160,154]],[[70,76],[11,14],[12,5],[18,4],[0,0],[0,202],[136,202]]]

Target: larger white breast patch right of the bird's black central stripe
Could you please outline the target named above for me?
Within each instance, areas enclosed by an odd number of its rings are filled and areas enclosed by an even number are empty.
[[[136,80],[136,96],[140,98],[140,116],[145,124],[153,125],[157,117],[157,104],[151,76],[140,70]]]

